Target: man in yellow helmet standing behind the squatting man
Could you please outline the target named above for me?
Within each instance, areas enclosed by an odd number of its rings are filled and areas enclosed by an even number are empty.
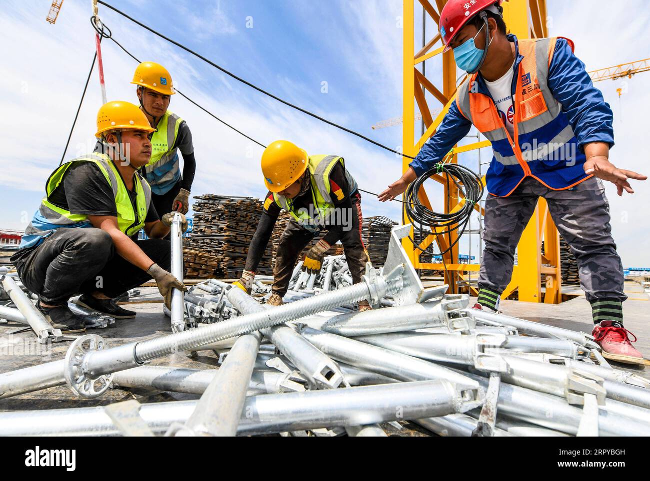
[[[192,132],[181,117],[167,110],[174,95],[172,76],[162,65],[142,62],[135,69],[138,101],[149,124],[156,130],[151,137],[151,160],[144,167],[151,186],[151,199],[159,216],[172,210],[187,214],[196,171]],[[183,175],[177,151],[183,154]]]

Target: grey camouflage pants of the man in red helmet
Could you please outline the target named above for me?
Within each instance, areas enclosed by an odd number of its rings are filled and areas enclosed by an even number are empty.
[[[512,277],[521,233],[539,197],[578,261],[580,287],[588,301],[625,301],[623,264],[612,238],[603,182],[591,177],[568,190],[551,190],[528,177],[508,197],[487,195],[483,262],[478,287],[501,293]]]

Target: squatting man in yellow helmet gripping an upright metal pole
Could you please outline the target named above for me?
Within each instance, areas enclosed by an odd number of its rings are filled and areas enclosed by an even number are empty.
[[[113,299],[152,277],[167,306],[172,288],[185,290],[168,272],[170,243],[162,239],[174,214],[159,220],[149,184],[138,172],[151,157],[153,130],[132,103],[101,106],[96,136],[103,152],[51,173],[40,208],[11,258],[20,280],[38,295],[38,310],[62,332],[86,330],[83,317],[68,308],[73,295],[82,294],[76,301],[81,306],[123,319],[136,313]],[[143,227],[151,239],[136,240]]]

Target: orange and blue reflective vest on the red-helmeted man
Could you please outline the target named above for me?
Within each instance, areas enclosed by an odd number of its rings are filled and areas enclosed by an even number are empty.
[[[562,104],[547,83],[557,37],[519,40],[523,60],[516,75],[513,97],[514,136],[506,130],[489,95],[478,92],[476,73],[458,88],[456,105],[492,143],[494,156],[487,169],[487,190],[506,197],[526,177],[553,190],[564,190],[588,179],[584,153]],[[566,39],[573,49],[573,42]]]

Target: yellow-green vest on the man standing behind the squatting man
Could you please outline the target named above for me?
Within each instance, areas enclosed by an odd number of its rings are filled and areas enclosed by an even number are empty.
[[[153,193],[168,192],[181,178],[177,149],[174,147],[183,119],[167,110],[151,136],[151,160],[144,167]]]

